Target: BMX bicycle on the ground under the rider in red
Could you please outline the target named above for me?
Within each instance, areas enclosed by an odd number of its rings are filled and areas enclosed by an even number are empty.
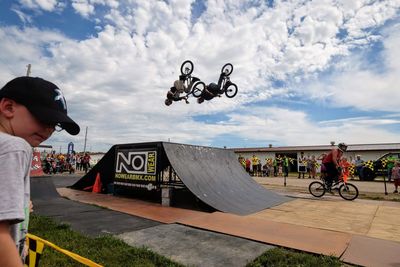
[[[334,181],[329,187],[325,180],[314,181],[308,186],[308,191],[314,197],[322,197],[326,192],[338,191],[339,195],[345,200],[354,200],[358,197],[358,188],[345,182],[341,177],[338,181]]]

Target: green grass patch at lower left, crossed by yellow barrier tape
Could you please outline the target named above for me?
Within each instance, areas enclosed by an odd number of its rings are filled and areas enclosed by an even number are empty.
[[[104,266],[183,266],[146,248],[134,248],[111,236],[90,238],[72,231],[66,224],[31,215],[29,232],[55,245]],[[66,255],[45,247],[40,266],[84,266]]]

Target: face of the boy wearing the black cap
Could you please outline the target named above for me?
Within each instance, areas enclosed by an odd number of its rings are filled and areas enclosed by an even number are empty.
[[[54,126],[45,125],[37,120],[23,105],[15,103],[14,107],[10,125],[15,136],[25,139],[32,147],[36,147],[52,135]]]

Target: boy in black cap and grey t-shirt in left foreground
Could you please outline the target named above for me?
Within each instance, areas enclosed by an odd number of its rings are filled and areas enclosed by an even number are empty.
[[[0,90],[0,266],[22,266],[26,256],[32,147],[54,130],[76,135],[58,87],[41,78],[19,77]]]

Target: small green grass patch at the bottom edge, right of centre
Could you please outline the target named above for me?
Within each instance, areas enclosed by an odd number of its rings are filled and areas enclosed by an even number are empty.
[[[336,267],[343,266],[343,263],[338,258],[333,256],[313,255],[304,252],[297,252],[290,249],[273,248],[261,256],[257,257],[254,261],[247,264],[246,267]]]

